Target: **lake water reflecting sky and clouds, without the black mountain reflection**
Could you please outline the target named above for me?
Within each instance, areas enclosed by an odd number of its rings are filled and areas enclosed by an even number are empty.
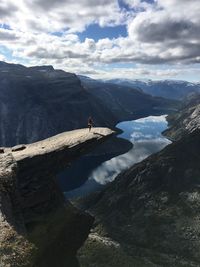
[[[79,188],[65,192],[66,197],[83,196],[103,187],[106,183],[113,181],[121,171],[170,144],[170,141],[161,134],[167,128],[165,115],[121,122],[117,127],[123,130],[119,137],[132,142],[133,148],[129,152],[105,161],[91,170],[86,182]]]

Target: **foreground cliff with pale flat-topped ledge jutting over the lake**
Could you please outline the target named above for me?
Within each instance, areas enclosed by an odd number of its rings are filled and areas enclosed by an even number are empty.
[[[58,188],[55,174],[113,132],[94,128],[4,148],[0,155],[0,266],[78,266],[93,218]],[[22,149],[23,148],[23,149]]]

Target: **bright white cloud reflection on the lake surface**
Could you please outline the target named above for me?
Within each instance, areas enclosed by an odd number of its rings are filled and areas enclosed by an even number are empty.
[[[165,126],[160,125],[160,129],[157,129],[157,123],[165,123]],[[121,125],[122,124],[123,123],[121,123]],[[138,125],[140,126],[140,131],[135,131],[136,128],[138,129]],[[119,173],[130,168],[133,164],[163,149],[171,143],[160,134],[161,131],[166,128],[166,125],[167,123],[164,116],[160,118],[150,116],[143,120],[132,122],[130,141],[134,143],[134,147],[129,152],[102,163],[91,173],[89,179],[94,179],[97,183],[104,185],[113,181]],[[123,126],[120,127],[120,124],[118,127],[123,129]]]

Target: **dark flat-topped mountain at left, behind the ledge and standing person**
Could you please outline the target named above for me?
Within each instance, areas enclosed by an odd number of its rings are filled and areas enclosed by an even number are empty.
[[[97,125],[115,124],[113,114],[75,74],[52,66],[0,63],[0,145],[31,143],[85,127],[90,114]]]

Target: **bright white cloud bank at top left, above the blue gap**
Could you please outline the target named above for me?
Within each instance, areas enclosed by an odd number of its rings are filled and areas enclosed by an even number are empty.
[[[88,25],[119,25],[125,14],[115,0],[1,0],[1,23],[31,32],[83,31]]]

